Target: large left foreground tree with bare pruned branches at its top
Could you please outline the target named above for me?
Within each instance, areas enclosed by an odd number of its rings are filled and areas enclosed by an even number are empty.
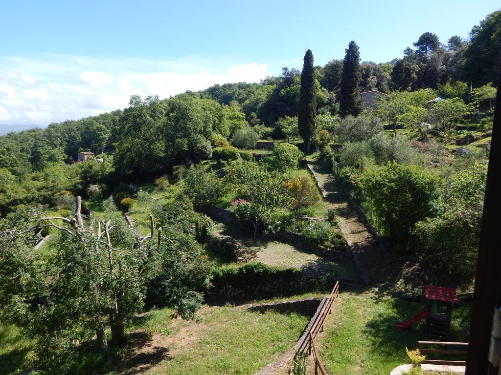
[[[199,245],[187,241],[193,238],[193,220],[185,220],[183,226],[161,218],[166,228],[159,239],[140,237],[123,220],[84,219],[79,198],[76,219],[48,216],[26,206],[0,219],[0,315],[36,340],[40,368],[51,373],[58,372],[62,357],[73,355],[78,342],[94,335],[96,347],[107,351],[107,323],[112,341],[123,342],[125,325],[141,311],[151,281],[158,276],[175,280],[166,284],[168,290],[163,288],[163,299],[171,305],[177,301],[181,316],[192,316],[200,305],[193,303],[198,295],[195,278],[184,284],[187,269],[197,263],[190,253],[200,254]],[[61,239],[49,254],[33,251],[38,233],[48,226],[59,230]],[[169,240],[162,240],[165,237]],[[174,268],[166,267],[167,261]],[[203,266],[198,262],[197,267],[206,279]]]

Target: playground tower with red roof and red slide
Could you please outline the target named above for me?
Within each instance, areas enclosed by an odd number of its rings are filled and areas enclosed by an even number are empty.
[[[443,286],[425,285],[424,296],[427,308],[405,321],[397,322],[397,328],[408,329],[419,320],[426,318],[426,332],[430,338],[440,339],[447,337],[450,330],[452,303],[457,302],[456,289]],[[439,310],[440,305],[446,306],[446,311]],[[432,308],[436,306],[435,310]]]

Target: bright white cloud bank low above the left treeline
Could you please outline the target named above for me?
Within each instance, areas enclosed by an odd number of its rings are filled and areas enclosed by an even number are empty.
[[[197,56],[176,61],[0,57],[0,121],[46,125],[125,108],[133,94],[161,98],[215,83],[257,82],[268,64]]]

